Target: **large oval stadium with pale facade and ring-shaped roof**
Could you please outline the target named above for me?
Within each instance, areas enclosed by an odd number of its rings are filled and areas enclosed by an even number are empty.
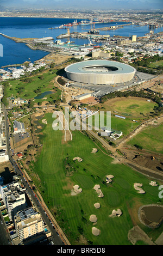
[[[87,60],[68,65],[67,78],[86,84],[118,84],[133,79],[136,69],[110,60]]]

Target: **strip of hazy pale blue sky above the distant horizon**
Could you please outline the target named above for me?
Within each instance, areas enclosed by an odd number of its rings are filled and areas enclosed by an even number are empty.
[[[0,0],[9,8],[163,9],[162,0]]]

